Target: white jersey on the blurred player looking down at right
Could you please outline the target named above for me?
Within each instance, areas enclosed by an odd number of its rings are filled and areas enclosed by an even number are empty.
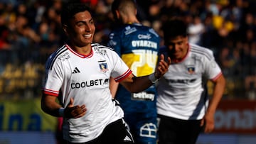
[[[157,113],[182,120],[203,118],[208,106],[203,84],[220,74],[211,50],[189,44],[186,57],[171,64],[157,84]]]

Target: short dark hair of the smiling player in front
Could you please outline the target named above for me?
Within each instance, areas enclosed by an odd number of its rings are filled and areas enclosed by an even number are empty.
[[[63,5],[63,9],[60,14],[60,21],[62,26],[69,24],[69,20],[75,16],[76,13],[82,11],[89,11],[91,13],[90,7],[84,3],[70,2]]]

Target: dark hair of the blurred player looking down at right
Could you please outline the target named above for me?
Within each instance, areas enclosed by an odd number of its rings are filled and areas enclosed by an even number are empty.
[[[187,24],[180,18],[167,20],[163,23],[162,31],[164,39],[176,38],[177,36],[187,36]]]

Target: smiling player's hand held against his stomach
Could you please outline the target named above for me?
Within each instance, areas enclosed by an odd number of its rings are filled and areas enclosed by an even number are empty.
[[[87,109],[85,105],[74,106],[74,99],[71,98],[68,106],[64,110],[64,116],[66,118],[80,118],[85,115]]]

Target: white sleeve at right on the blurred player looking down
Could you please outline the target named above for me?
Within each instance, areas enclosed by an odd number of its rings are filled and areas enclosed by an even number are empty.
[[[222,73],[220,70],[220,66],[215,61],[215,58],[213,56],[213,52],[211,50],[206,49],[206,57],[203,62],[203,65],[205,67],[205,75],[208,79],[217,79],[220,74]]]

